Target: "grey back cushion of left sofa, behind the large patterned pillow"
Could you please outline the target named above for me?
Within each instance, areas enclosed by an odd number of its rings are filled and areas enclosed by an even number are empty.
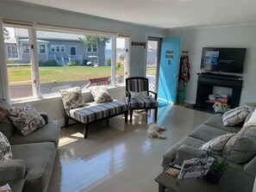
[[[8,139],[15,133],[16,128],[9,121],[7,116],[8,110],[11,108],[10,104],[3,99],[0,99],[0,132],[2,132]]]

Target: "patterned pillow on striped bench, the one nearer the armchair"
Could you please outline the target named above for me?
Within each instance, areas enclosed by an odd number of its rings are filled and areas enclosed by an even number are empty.
[[[109,95],[109,92],[107,91],[106,86],[93,86],[90,88],[90,91],[94,101],[97,103],[113,101],[112,97]]]

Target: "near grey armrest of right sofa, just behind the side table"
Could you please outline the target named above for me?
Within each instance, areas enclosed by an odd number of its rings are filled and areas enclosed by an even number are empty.
[[[178,147],[174,162],[176,164],[182,164],[184,160],[188,160],[190,158],[198,158],[203,156],[205,153],[205,151],[198,149],[196,147],[182,145]]]

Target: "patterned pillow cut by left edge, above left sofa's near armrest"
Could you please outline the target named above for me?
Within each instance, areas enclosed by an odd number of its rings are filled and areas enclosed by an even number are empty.
[[[9,140],[0,132],[0,160],[13,159]]]

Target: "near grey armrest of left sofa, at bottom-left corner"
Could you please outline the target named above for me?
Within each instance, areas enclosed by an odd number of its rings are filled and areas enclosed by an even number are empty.
[[[9,182],[25,177],[25,162],[22,159],[0,161],[0,182]]]

